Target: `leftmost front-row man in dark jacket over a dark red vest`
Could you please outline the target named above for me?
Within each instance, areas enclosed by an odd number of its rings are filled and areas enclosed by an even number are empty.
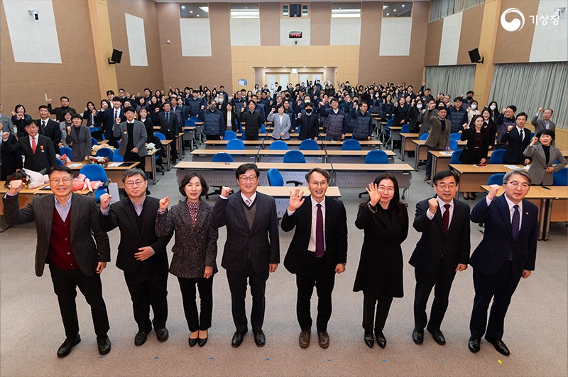
[[[53,194],[35,196],[21,210],[18,192],[23,188],[22,181],[11,181],[10,191],[4,196],[6,224],[35,222],[38,233],[35,275],[42,276],[45,264],[49,264],[65,327],[66,339],[58,349],[58,356],[67,356],[81,342],[75,303],[77,287],[91,307],[99,354],[108,354],[111,351],[107,336],[109,317],[102,298],[100,274],[110,261],[109,237],[99,227],[99,208],[94,198],[72,193],[71,169],[51,168],[49,181]]]

